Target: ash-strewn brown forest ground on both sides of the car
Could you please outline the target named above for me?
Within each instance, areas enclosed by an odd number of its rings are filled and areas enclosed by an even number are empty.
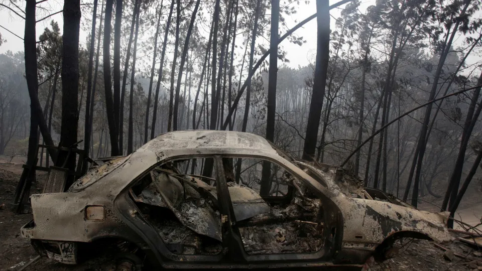
[[[9,157],[0,157],[0,206],[12,201],[17,183],[22,174],[22,164],[25,158],[16,157],[10,162]],[[32,193],[39,193],[45,180],[44,173],[37,176],[38,182],[32,188]],[[463,206],[462,213],[470,220],[480,217],[482,204]],[[463,211],[465,210],[466,211]],[[434,211],[434,210],[433,210]],[[464,215],[462,215],[464,218]],[[19,270],[37,256],[29,240],[20,236],[20,228],[32,219],[32,214],[15,214],[7,206],[0,207],[0,270]],[[477,223],[477,219],[472,219]],[[464,220],[465,221],[465,220]],[[472,223],[471,221],[467,221]],[[454,237],[461,235],[454,234]],[[374,263],[373,270],[482,270],[482,254],[477,248],[470,247],[460,241],[442,244],[444,250],[427,240],[406,239],[396,245],[399,248],[394,258],[384,263]],[[445,255],[444,255],[445,254]],[[449,254],[449,255],[447,255]],[[389,269],[387,269],[387,267]],[[78,265],[65,265],[42,257],[30,264],[25,270],[113,270],[112,255],[102,255],[99,258],[84,261]]]

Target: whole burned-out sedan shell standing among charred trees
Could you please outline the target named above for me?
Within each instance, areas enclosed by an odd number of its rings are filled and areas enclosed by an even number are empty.
[[[119,244],[126,270],[359,270],[398,238],[451,239],[448,213],[419,211],[356,180],[294,161],[251,133],[169,132],[66,193],[32,195],[21,234],[67,264],[90,246]]]

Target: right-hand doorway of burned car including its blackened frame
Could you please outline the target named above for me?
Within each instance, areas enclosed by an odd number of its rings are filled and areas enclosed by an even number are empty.
[[[342,223],[325,210],[330,203],[319,197],[319,191],[301,191],[305,188],[303,178],[284,165],[289,162],[267,157],[224,156],[218,163],[223,169],[219,182],[221,189],[224,186],[221,194],[229,206],[224,212],[230,214],[225,232],[232,242],[230,249],[250,262],[324,261],[332,257],[335,244],[340,245],[334,239],[341,236],[337,230],[342,229]],[[259,193],[270,210],[236,221],[232,195],[226,192],[230,186]]]

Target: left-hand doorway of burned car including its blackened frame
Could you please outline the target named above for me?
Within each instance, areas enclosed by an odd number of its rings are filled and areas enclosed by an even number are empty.
[[[222,204],[226,197],[219,180],[224,177],[218,174],[217,160],[214,156],[189,156],[162,161],[137,177],[115,200],[123,221],[162,266],[196,266],[231,258],[226,253],[232,249],[225,223],[230,214]],[[154,183],[156,179],[159,182]],[[210,217],[203,220],[204,216]]]

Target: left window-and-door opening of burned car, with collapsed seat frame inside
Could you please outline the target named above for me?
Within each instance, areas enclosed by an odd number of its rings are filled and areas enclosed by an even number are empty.
[[[165,163],[130,191],[144,219],[173,253],[213,255],[222,249],[219,211],[215,198],[207,197],[216,173],[203,176],[206,164],[212,165],[212,158]]]

